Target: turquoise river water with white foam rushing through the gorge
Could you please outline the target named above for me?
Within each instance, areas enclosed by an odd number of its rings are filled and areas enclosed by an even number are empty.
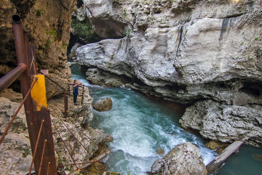
[[[103,129],[114,137],[108,143],[112,153],[104,160],[109,171],[117,171],[122,175],[131,171],[132,175],[144,175],[151,170],[157,155],[157,149],[165,153],[177,144],[190,141],[197,144],[204,163],[208,164],[216,153],[204,146],[201,137],[186,132],[180,127],[178,120],[183,110],[148,99],[139,92],[127,88],[104,88],[86,81],[86,75],[78,71],[79,65],[72,64],[72,79],[77,79],[89,88],[94,102],[110,97],[112,109],[98,112],[93,109],[94,118],[91,126]],[[243,145],[238,155],[232,155],[225,162],[219,175],[257,175],[262,174],[261,160],[255,160],[254,154],[262,155],[262,149]],[[256,157],[256,156],[255,156]]]

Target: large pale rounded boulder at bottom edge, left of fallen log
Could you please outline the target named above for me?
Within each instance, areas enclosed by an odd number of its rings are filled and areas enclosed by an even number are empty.
[[[198,148],[186,142],[175,146],[163,158],[157,159],[151,167],[151,174],[206,175],[207,171]]]

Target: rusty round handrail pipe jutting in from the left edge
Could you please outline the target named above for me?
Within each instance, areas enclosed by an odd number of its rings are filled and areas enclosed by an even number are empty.
[[[0,78],[0,93],[8,88],[25,70],[26,65],[21,63],[15,67],[15,69],[11,70],[2,78]]]

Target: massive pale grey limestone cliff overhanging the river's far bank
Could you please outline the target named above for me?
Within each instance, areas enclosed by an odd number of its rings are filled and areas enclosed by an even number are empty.
[[[76,50],[88,80],[122,82],[180,103],[212,99],[261,106],[261,1],[84,0],[84,6],[100,37],[125,36]],[[260,121],[261,114],[255,116]],[[215,139],[212,133],[202,135]],[[254,140],[261,143],[259,134]]]

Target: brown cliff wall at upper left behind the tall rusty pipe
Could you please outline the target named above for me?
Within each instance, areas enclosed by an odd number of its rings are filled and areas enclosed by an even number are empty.
[[[66,87],[67,79],[71,76],[70,68],[65,68],[66,49],[70,38],[71,12],[75,3],[74,0],[1,1],[1,67],[6,65],[9,69],[13,69],[17,65],[11,23],[12,14],[17,13],[27,30],[29,44],[36,45],[38,69],[48,69],[49,76],[56,81],[63,81]],[[1,71],[0,74],[5,74],[5,72]],[[49,83],[47,81],[47,85],[55,89]],[[50,89],[47,93],[57,94]]]

